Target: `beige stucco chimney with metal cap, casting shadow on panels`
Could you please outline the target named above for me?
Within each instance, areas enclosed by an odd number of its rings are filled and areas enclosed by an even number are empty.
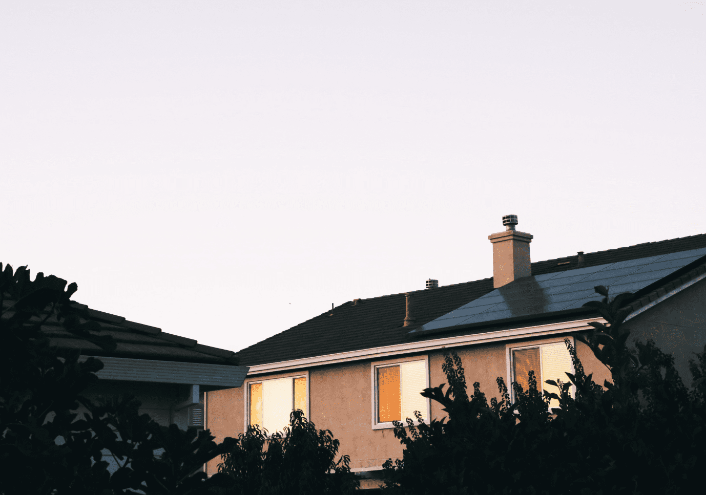
[[[505,232],[488,236],[493,243],[493,288],[532,275],[530,243],[534,236],[515,231],[517,215],[503,216],[503,225]]]

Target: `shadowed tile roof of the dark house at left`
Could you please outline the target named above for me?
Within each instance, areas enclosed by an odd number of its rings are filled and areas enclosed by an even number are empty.
[[[99,323],[98,335],[110,335],[117,343],[116,349],[107,351],[95,343],[52,324],[42,325],[42,333],[52,345],[64,349],[80,349],[82,355],[133,357],[139,359],[180,362],[203,362],[215,365],[237,365],[238,358],[232,350],[203,346],[192,338],[167,334],[156,326],[130,322],[115,314],[88,309],[90,318]]]

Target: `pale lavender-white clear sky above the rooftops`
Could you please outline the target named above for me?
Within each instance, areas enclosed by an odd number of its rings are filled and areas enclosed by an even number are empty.
[[[0,3],[0,262],[239,350],[706,233],[706,1]],[[401,322],[400,322],[401,323]]]

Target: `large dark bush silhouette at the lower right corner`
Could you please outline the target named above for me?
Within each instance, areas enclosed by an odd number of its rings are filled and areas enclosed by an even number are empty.
[[[446,355],[444,385],[422,396],[443,405],[448,421],[407,429],[395,423],[405,446],[403,457],[385,463],[390,494],[677,494],[700,486],[706,449],[706,348],[690,362],[695,379],[688,390],[674,359],[652,341],[626,343],[623,309],[631,294],[589,302],[607,324],[577,335],[611,372],[603,386],[586,375],[575,348],[566,339],[575,373],[558,393],[537,390],[530,372],[529,390],[513,384],[515,402],[502,378],[500,400],[473,384],[468,396],[460,358]],[[575,394],[570,393],[575,387]],[[554,398],[559,407],[549,411]]]

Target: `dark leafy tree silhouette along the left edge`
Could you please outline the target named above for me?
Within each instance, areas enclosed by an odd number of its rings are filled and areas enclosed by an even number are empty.
[[[233,439],[217,445],[208,431],[162,427],[139,414],[134,398],[94,404],[80,395],[102,362],[51,346],[42,324],[107,350],[116,344],[71,301],[76,290],[0,264],[0,494],[201,494],[219,486],[224,477],[206,479],[199,469]],[[118,466],[112,476],[108,460]]]

